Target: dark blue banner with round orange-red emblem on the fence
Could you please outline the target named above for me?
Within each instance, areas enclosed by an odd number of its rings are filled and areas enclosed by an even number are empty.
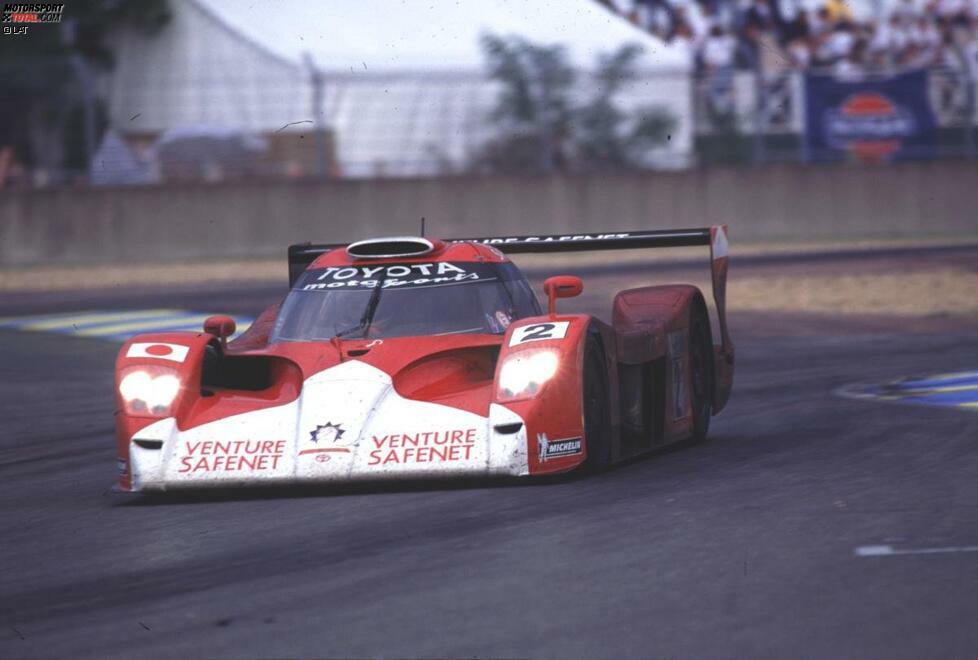
[[[933,158],[936,146],[926,70],[858,81],[805,76],[805,147],[811,160]]]

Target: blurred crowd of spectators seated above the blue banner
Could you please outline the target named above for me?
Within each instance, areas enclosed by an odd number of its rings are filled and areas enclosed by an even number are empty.
[[[978,0],[601,0],[698,70],[978,71]]]

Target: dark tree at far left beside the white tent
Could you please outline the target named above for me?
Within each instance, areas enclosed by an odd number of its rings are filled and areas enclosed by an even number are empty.
[[[169,16],[166,0],[74,0],[60,24],[0,39],[0,151],[28,167],[85,170],[106,123],[93,78],[114,64],[107,35],[150,34]]]

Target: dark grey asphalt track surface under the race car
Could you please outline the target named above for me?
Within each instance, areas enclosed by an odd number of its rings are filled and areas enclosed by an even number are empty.
[[[253,314],[277,293],[0,315]],[[733,324],[703,445],[546,483],[153,499],[108,492],[117,344],[0,331],[0,657],[978,656],[978,413],[833,394],[978,368],[975,324]]]

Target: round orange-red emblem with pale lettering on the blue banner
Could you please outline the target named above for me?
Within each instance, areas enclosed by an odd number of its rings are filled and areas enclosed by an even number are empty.
[[[825,122],[828,143],[860,160],[889,157],[918,130],[913,113],[877,92],[853,94],[826,113]]]

